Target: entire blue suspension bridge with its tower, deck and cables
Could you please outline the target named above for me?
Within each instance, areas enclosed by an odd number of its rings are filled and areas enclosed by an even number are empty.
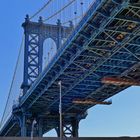
[[[139,0],[48,0],[22,27],[1,136],[30,136],[34,120],[34,136],[60,136],[60,81],[64,137],[78,137],[89,108],[140,85]]]

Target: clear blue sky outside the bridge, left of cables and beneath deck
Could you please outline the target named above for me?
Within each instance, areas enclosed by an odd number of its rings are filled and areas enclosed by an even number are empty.
[[[1,0],[0,118],[21,44],[21,24],[27,13],[32,15],[45,2],[46,0]],[[89,115],[80,123],[80,136],[140,135],[140,87],[131,87],[112,97],[112,101],[110,106],[97,105],[88,111]]]

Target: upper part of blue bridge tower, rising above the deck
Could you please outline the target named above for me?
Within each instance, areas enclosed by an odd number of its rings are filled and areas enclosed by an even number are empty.
[[[59,19],[57,25],[45,24],[43,23],[42,17],[36,23],[30,21],[27,15],[22,27],[24,28],[25,34],[25,48],[24,77],[21,88],[23,89],[23,94],[26,94],[35,79],[42,72],[44,41],[51,38],[55,42],[57,49],[59,49],[62,44],[62,39],[67,38],[73,25],[70,22],[70,27],[64,27],[61,25]]]

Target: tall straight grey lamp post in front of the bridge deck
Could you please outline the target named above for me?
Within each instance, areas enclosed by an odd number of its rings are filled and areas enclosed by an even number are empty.
[[[62,82],[58,82],[59,85],[59,115],[60,115],[60,140],[62,140],[63,132],[62,132]]]

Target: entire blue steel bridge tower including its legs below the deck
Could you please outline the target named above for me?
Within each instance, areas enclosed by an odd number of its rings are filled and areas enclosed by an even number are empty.
[[[22,24],[25,34],[25,45],[24,45],[24,74],[23,83],[21,89],[23,90],[23,96],[26,95],[28,89],[34,83],[36,78],[42,72],[43,64],[43,44],[48,38],[51,38],[57,49],[62,45],[62,40],[67,38],[73,29],[73,24],[70,22],[70,26],[62,26],[61,21],[58,20],[56,25],[43,23],[42,17],[39,18],[38,22],[30,21],[28,15],[26,15],[25,22]],[[20,99],[22,99],[20,97]],[[43,131],[43,118],[38,117],[38,114],[33,114],[31,111],[27,111],[26,108],[14,108],[13,114],[15,120],[19,123],[20,133],[19,136],[30,136],[32,131],[33,121],[36,120],[36,130],[34,130],[35,136],[42,136]],[[59,118],[58,118],[59,119]],[[71,123],[72,130],[68,126],[64,126],[64,130],[70,130],[71,135],[78,136],[78,122]],[[59,126],[59,125],[58,125]],[[76,129],[74,129],[76,128]],[[75,131],[74,131],[75,130]],[[58,133],[58,127],[56,127]],[[65,134],[66,132],[64,132]]]

